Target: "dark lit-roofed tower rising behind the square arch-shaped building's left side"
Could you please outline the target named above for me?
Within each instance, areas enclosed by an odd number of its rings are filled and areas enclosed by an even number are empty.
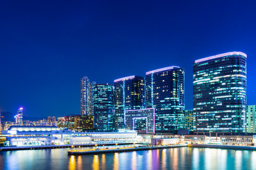
[[[130,76],[114,80],[114,127],[124,128],[124,111],[145,106],[144,77]]]

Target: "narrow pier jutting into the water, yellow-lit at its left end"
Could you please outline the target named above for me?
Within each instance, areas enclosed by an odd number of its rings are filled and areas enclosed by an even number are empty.
[[[173,147],[187,147],[187,145],[167,145],[167,146],[155,146],[155,147],[127,147],[127,148],[110,148],[110,149],[90,149],[90,150],[70,150],[68,154],[70,155],[80,155],[80,154],[107,154],[112,152],[132,152],[141,150],[151,150],[151,149],[168,149]]]

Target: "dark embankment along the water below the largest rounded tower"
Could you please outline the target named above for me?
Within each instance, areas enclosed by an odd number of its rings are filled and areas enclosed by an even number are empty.
[[[256,147],[231,146],[231,145],[188,144],[188,147],[204,147],[204,148],[216,148],[216,149],[256,150]]]

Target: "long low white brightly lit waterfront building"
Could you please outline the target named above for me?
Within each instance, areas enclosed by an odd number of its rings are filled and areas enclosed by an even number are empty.
[[[11,126],[2,130],[6,137],[5,146],[38,146],[38,145],[83,145],[88,143],[122,143],[136,142],[137,131],[122,132],[72,132],[50,126]]]

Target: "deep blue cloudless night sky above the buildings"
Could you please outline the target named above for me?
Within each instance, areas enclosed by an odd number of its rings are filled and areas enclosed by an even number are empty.
[[[256,104],[254,1],[1,1],[0,111],[80,114],[80,78],[114,79],[193,61],[247,54],[247,103]]]

